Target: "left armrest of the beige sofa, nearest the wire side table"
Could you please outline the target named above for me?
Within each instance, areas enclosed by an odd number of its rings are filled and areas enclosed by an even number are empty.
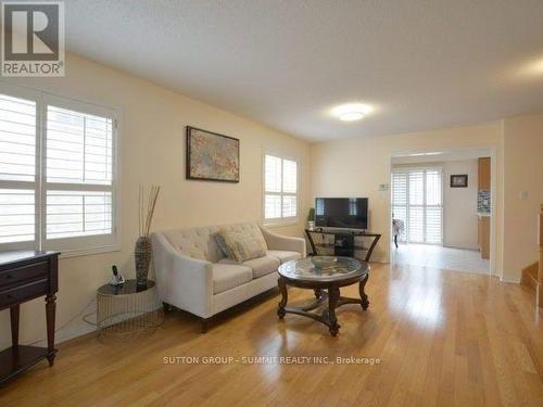
[[[153,233],[151,242],[160,300],[199,317],[211,317],[212,264],[184,255],[162,233]]]

